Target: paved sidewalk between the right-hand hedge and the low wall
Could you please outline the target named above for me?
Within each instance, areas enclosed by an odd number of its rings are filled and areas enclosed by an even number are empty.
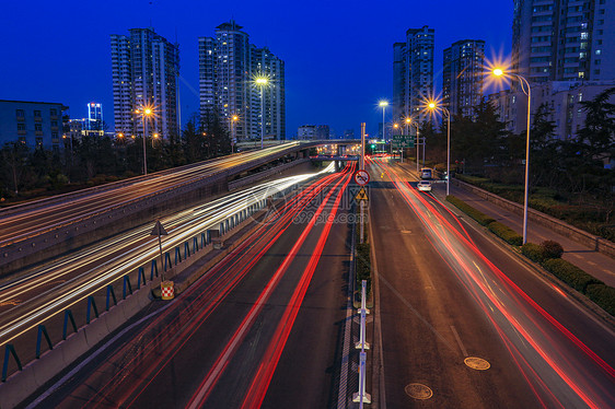
[[[404,170],[410,171],[414,175],[417,175],[415,163],[409,162],[399,165]],[[432,194],[439,200],[445,201],[446,184],[433,184]],[[453,184],[450,185],[450,194],[494,218],[496,221],[508,225],[519,234],[523,231],[523,218],[521,215],[504,210]],[[596,279],[604,281],[607,285],[615,287],[615,259],[555,233],[545,226],[532,223],[531,221],[527,222],[527,242],[541,244],[546,239],[552,239],[561,244],[564,247],[564,255],[561,258],[570,261]]]

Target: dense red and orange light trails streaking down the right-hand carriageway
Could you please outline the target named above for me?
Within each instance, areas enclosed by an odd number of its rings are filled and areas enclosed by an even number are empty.
[[[542,385],[542,390],[562,407],[587,405],[590,408],[600,408],[614,405],[615,389],[606,390],[602,386],[604,382],[615,385],[613,367],[532,300],[439,212],[427,206],[420,194],[402,183],[387,167],[385,172],[426,226],[430,242],[441,249],[440,254],[451,270],[479,303],[507,347],[510,347],[513,357],[522,359],[532,378]],[[430,220],[428,213],[436,215],[438,220]],[[483,268],[475,265],[475,260],[483,264]],[[489,274],[485,276],[483,270]],[[498,292],[494,289],[498,289]],[[495,309],[487,308],[486,305],[489,304]],[[548,327],[555,330],[548,330]],[[515,347],[518,339],[523,343]],[[569,353],[568,344],[575,346],[581,357]],[[527,349],[527,346],[531,349]],[[538,358],[542,363],[538,363]],[[519,362],[517,359],[515,361]],[[603,382],[596,377],[600,372],[596,373],[588,362],[597,365],[604,376]],[[524,373],[521,366],[520,370]],[[552,374],[556,374],[560,382],[555,382]],[[525,373],[524,376],[529,378]],[[559,393],[556,396],[552,390]]]

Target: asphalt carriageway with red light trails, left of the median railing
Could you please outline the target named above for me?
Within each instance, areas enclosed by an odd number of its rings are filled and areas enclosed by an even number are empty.
[[[337,209],[350,175],[301,214]],[[327,196],[332,192],[330,196]],[[326,204],[321,206],[322,201]],[[53,388],[40,407],[330,407],[349,259],[346,223],[278,222]],[[299,244],[298,244],[299,243]]]

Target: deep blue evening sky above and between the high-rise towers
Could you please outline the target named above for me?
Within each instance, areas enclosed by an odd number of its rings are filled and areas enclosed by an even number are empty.
[[[151,4],[150,4],[151,3]],[[72,118],[103,103],[113,125],[111,34],[150,26],[179,43],[182,119],[198,112],[199,36],[233,17],[251,43],[286,62],[287,137],[303,124],[336,133],[367,122],[375,133],[380,98],[391,98],[393,43],[407,28],[436,28],[442,50],[459,39],[486,40],[486,54],[509,55],[512,1],[2,1],[0,100],[60,102]],[[390,112],[388,112],[390,114]],[[113,128],[112,128],[113,129]]]

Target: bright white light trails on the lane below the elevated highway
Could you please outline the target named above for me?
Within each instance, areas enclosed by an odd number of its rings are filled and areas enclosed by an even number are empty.
[[[329,173],[332,167],[329,166],[321,173]],[[165,239],[164,246],[166,248],[174,248],[198,232],[210,227],[216,229],[221,221],[245,209],[247,206],[264,200],[276,191],[283,191],[316,175],[304,174],[260,184],[254,188],[231,194],[211,203],[198,207],[196,211],[190,209],[177,215],[162,219],[164,224],[176,225],[175,229],[170,229],[170,236]],[[4,283],[0,287],[1,304],[2,302],[23,296],[28,292],[47,285],[49,282],[55,282],[63,277],[77,273],[80,268],[96,262],[109,253],[120,254],[113,256],[104,265],[101,266],[98,264],[94,268],[79,273],[77,277],[67,279],[61,285],[32,296],[27,302],[0,314],[0,346],[10,342],[25,331],[36,327],[39,323],[85,300],[89,295],[104,289],[124,274],[135,271],[149,260],[155,259],[160,250],[156,237],[149,235],[150,227],[146,226],[136,230],[129,234],[130,238],[124,236],[119,236],[119,238],[114,237],[103,245],[92,246],[76,255],[71,255],[60,260],[59,264],[54,264],[36,271],[31,280],[21,279],[20,281]],[[146,237],[144,241],[143,237]],[[129,248],[113,248],[118,243],[124,243]]]

